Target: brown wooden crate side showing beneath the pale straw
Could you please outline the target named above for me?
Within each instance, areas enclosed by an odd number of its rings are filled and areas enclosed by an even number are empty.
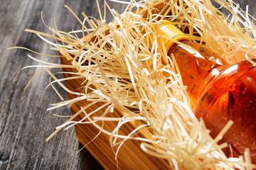
[[[60,55],[68,56],[65,55],[65,53],[60,53]],[[73,58],[60,57],[60,61],[62,64],[70,64],[70,62],[73,61]],[[78,72],[78,70],[74,68],[63,68],[63,72]],[[73,77],[73,74],[63,75],[65,78]],[[85,81],[85,79],[69,79],[65,81],[65,86],[71,91],[77,91],[80,93],[82,91],[80,87],[83,81]],[[77,96],[75,96],[74,94],[68,93],[69,99],[73,99],[76,97]],[[79,101],[71,106],[71,111],[73,115],[80,111],[81,106],[85,106],[87,104],[87,101]],[[95,104],[85,111],[90,113],[91,111],[94,111],[100,106],[100,104]],[[102,110],[97,111],[94,116],[102,115],[102,113],[104,113],[104,110],[105,109],[103,108]],[[109,117],[114,118],[121,118],[124,115],[126,115],[126,113],[123,113],[122,111],[119,111],[117,109],[114,109],[113,113],[108,114]],[[85,115],[83,113],[80,113],[74,120],[79,121],[84,118],[84,116]],[[112,132],[116,125],[116,122],[105,121],[104,129]],[[122,128],[119,129],[119,133],[120,135],[129,135],[129,133],[137,128],[139,125],[142,125],[142,123],[138,120],[125,123]],[[170,169],[169,163],[165,159],[152,157],[151,155],[143,152],[140,148],[141,142],[137,140],[125,141],[118,152],[116,161],[114,159],[113,148],[110,145],[109,135],[101,132],[100,135],[95,138],[95,136],[97,136],[97,134],[99,133],[99,130],[91,124],[77,124],[75,125],[75,130],[77,132],[78,140],[82,143],[82,145],[87,145],[90,141],[92,141],[85,148],[90,152],[90,154],[92,154],[93,157],[95,157],[95,159],[97,159],[97,162],[99,162],[105,169],[117,169],[117,162],[118,169]],[[136,136],[151,139],[151,132],[144,128],[140,130],[140,132]],[[114,150],[116,149],[117,147],[114,147]]]

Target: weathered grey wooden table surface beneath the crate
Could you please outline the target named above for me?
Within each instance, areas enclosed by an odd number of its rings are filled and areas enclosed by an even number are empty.
[[[33,79],[28,89],[23,91],[31,77],[41,70],[23,69],[18,74],[23,67],[38,64],[27,55],[55,63],[59,63],[58,57],[43,57],[26,50],[6,50],[7,47],[21,46],[36,52],[56,55],[55,51],[49,50],[50,45],[32,33],[25,33],[24,30],[29,28],[50,33],[41,21],[41,11],[46,25],[53,27],[55,17],[59,30],[78,30],[81,28],[80,23],[64,5],[72,8],[80,18],[82,11],[87,16],[100,18],[96,1],[0,1],[0,169],[102,169],[85,149],[75,154],[82,145],[78,142],[73,128],[61,130],[46,142],[46,137],[55,130],[55,127],[65,121],[65,118],[58,118],[53,114],[70,115],[68,108],[46,111],[51,103],[60,101],[51,88],[46,89],[43,94],[49,82],[46,72]],[[99,1],[103,4],[103,1]],[[243,9],[249,4],[252,15],[256,13],[254,1],[237,0]],[[108,4],[118,12],[124,11],[124,4],[115,4],[111,1],[108,1]],[[107,16],[110,22],[110,13]],[[13,82],[16,74],[18,77]],[[62,77],[61,74],[56,76]],[[59,86],[55,88],[67,98],[65,91]],[[38,106],[41,94],[43,97],[41,105]]]

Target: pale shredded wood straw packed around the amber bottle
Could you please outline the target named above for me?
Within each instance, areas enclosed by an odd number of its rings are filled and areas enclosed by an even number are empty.
[[[53,79],[50,85],[60,84],[68,93],[78,96],[55,103],[49,109],[72,106],[82,100],[103,102],[107,106],[107,110],[100,117],[95,117],[95,112],[85,113],[89,106],[81,108],[78,114],[85,114],[83,120],[73,121],[75,115],[78,115],[75,114],[60,125],[56,132],[78,123],[92,123],[101,132],[110,135],[113,146],[122,147],[125,140],[140,140],[144,152],[167,159],[172,169],[252,168],[249,151],[245,152],[245,159],[227,158],[221,150],[227,145],[218,145],[232,122],[226,125],[218,137],[212,139],[203,120],[197,120],[193,115],[186,86],[182,84],[176,62],[167,57],[166,51],[157,49],[156,37],[159,35],[152,27],[159,20],[171,21],[191,40],[206,45],[228,62],[238,62],[246,58],[255,64],[250,60],[255,56],[254,18],[241,11],[233,1],[215,1],[230,11],[230,16],[223,15],[210,0],[129,1],[127,10],[122,14],[111,9],[105,2],[105,6],[114,16],[111,23],[105,22],[105,16],[101,15],[104,11],[100,11],[100,20],[82,13],[85,18],[81,21],[66,6],[81,23],[81,30],[65,33],[55,26],[49,28],[53,35],[26,30],[52,44],[53,50],[60,51],[70,61],[70,65],[54,64],[29,56],[43,64],[36,67],[46,68]],[[82,33],[82,38],[78,38],[78,32]],[[153,35],[151,40],[149,34]],[[55,42],[50,42],[45,37],[53,38]],[[149,44],[149,41],[153,43]],[[63,84],[65,79],[56,79],[50,72],[55,67],[78,69],[78,72],[71,73],[74,75],[72,79],[86,79],[81,84],[84,91],[78,93],[67,89]],[[111,113],[114,108],[127,115],[122,118],[108,118],[107,113]],[[119,121],[114,132],[107,132],[96,123],[109,120]],[[140,120],[143,125],[130,135],[119,135],[119,126],[132,120]],[[152,133],[153,140],[134,137],[136,131],[145,127]],[[121,142],[117,142],[117,138]]]

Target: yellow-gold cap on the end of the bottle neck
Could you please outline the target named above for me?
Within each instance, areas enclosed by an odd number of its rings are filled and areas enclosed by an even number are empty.
[[[159,35],[159,28],[161,31],[162,38],[157,38],[157,43],[161,50],[163,50],[161,39],[164,42],[164,46],[166,48],[166,51],[168,52],[172,45],[175,44],[173,40],[188,40],[191,41],[190,38],[188,38],[187,35],[185,35],[181,30],[179,30],[176,26],[174,26],[170,21],[159,21],[159,23],[154,25],[154,28],[156,30],[156,35]],[[170,39],[171,38],[171,39]]]

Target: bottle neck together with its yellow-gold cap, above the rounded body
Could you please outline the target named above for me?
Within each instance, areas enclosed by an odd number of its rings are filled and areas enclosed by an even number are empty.
[[[166,50],[169,57],[174,57],[177,69],[181,73],[183,85],[187,86],[188,95],[193,98],[192,108],[196,106],[203,89],[220,69],[227,63],[223,58],[208,48],[191,42],[181,30],[169,21],[159,21],[154,25],[156,40],[160,50]],[[182,42],[177,44],[176,42]]]

